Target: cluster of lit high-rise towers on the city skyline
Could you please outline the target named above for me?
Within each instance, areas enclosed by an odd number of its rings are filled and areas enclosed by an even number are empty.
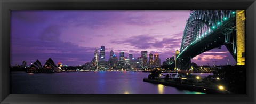
[[[161,59],[159,58],[159,54],[155,53],[153,57],[153,53],[149,54],[148,51],[141,51],[141,55],[138,58],[134,58],[132,53],[129,53],[127,57],[125,57],[125,52],[119,52],[119,57],[114,54],[114,51],[111,50],[109,52],[109,59],[105,58],[105,46],[100,47],[100,53],[98,49],[94,51],[94,58],[90,62],[89,69],[91,70],[108,70],[108,69],[148,69],[148,68],[156,68],[161,66]],[[149,58],[149,60],[148,60]]]

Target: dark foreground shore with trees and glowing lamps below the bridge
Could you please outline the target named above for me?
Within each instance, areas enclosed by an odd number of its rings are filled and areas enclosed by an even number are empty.
[[[164,76],[164,78],[163,78]],[[170,76],[170,78],[169,78]],[[246,69],[244,65],[223,66],[217,68],[213,75],[200,78],[191,74],[162,75],[161,71],[151,71],[144,82],[163,84],[177,89],[198,91],[209,94],[245,94],[246,93]],[[175,75],[174,75],[175,76]]]

